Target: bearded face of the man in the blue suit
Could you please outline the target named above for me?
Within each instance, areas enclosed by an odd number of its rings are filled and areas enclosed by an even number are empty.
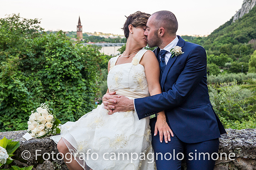
[[[158,47],[161,39],[158,35],[158,29],[155,24],[155,16],[150,16],[146,25],[147,29],[144,32],[144,35],[147,37],[147,42],[149,47]]]

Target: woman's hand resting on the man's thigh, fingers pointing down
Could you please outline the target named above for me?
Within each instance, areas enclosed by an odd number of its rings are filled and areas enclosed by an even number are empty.
[[[159,131],[159,138],[160,142],[162,143],[163,140],[163,135],[165,139],[165,143],[168,143],[168,141],[171,141],[171,135],[173,137],[173,132],[171,128],[168,126],[165,118],[165,113],[164,112],[159,112],[156,120],[156,126],[155,126],[155,132],[154,136],[157,135]]]

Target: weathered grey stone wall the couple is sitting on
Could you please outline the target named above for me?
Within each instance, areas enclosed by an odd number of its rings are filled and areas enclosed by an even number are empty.
[[[228,133],[221,135],[220,138],[220,156],[216,161],[214,170],[256,170],[256,129],[226,130]],[[26,131],[0,132],[0,139],[5,136],[7,139],[20,142],[20,147],[14,153],[13,158],[15,160],[12,165],[33,165],[33,170],[68,170],[64,162],[59,161],[56,157],[58,150],[55,142],[49,138],[26,141],[22,138],[25,133]],[[37,152],[37,154],[41,154],[37,160],[36,150],[41,150]],[[26,151],[30,152],[30,157],[29,153],[25,153]],[[42,158],[43,153],[49,153],[45,154],[45,158],[50,155],[50,159],[44,160]],[[23,159],[22,154],[29,158],[25,160],[26,158],[23,156],[25,158]],[[182,169],[186,170],[185,165]]]

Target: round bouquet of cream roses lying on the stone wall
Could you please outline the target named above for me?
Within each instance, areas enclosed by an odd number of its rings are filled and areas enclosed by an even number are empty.
[[[45,103],[41,104],[36,112],[31,111],[28,121],[28,132],[32,137],[42,138],[60,133],[60,120],[55,117],[53,110]]]

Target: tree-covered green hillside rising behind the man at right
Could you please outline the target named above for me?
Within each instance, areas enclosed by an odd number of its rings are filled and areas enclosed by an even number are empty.
[[[234,73],[241,72],[243,65],[243,72],[247,72],[250,55],[256,50],[254,23],[256,23],[256,6],[235,22],[231,18],[208,37],[183,37],[202,45],[207,50],[207,63],[215,63],[219,67],[224,67],[225,63],[232,63],[229,71]]]

